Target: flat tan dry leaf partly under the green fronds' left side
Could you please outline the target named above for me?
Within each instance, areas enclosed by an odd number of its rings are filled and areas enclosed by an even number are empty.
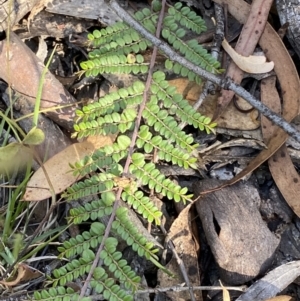
[[[87,140],[74,143],[44,163],[44,168],[50,178],[55,194],[61,193],[70,185],[80,180],[74,176],[70,164],[75,164],[96,149],[111,145],[115,136],[91,136]],[[51,197],[50,186],[42,168],[31,177],[23,197],[23,201],[41,201]]]

